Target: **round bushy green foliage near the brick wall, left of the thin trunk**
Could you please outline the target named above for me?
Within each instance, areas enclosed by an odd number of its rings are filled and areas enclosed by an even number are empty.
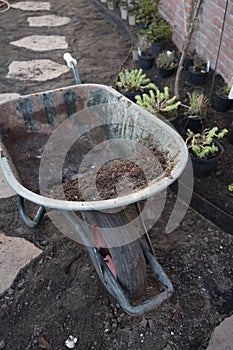
[[[161,42],[171,39],[172,30],[167,21],[162,17],[156,18],[146,29],[141,30],[151,43]]]

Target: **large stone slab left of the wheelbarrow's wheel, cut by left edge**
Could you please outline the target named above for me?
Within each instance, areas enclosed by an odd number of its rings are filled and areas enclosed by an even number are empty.
[[[41,252],[24,238],[0,232],[0,294],[11,286],[19,270]]]

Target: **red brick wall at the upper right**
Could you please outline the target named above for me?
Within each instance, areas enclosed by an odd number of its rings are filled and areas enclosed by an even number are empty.
[[[182,49],[190,18],[192,0],[160,0],[161,15],[173,27],[173,41]],[[215,68],[226,0],[204,0],[193,35],[192,47]],[[217,73],[226,82],[233,77],[233,2],[229,0]]]

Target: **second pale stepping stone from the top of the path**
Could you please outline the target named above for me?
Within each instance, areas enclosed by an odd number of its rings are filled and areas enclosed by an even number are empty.
[[[29,27],[59,27],[70,22],[69,17],[56,15],[33,16],[28,17]]]

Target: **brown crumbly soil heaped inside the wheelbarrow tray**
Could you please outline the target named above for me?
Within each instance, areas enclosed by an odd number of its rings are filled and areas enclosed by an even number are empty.
[[[81,176],[81,186],[79,178],[67,180],[67,177],[72,177],[72,174],[66,172],[64,193],[67,200],[73,201],[116,198],[143,189],[149,183],[169,176],[171,169],[172,166],[168,165],[166,155],[153,147],[146,153],[137,153],[137,157],[108,161],[98,169],[96,174],[84,173]],[[97,198],[95,198],[95,188]],[[54,191],[52,195],[54,196]]]

